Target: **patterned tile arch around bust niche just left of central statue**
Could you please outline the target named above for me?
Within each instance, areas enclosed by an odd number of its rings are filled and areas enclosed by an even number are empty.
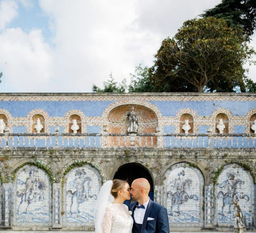
[[[77,109],[74,109],[74,110],[70,110],[68,111],[65,116],[63,117],[63,120],[64,120],[64,125],[63,125],[63,132],[64,133],[69,133],[70,130],[69,128],[71,127],[71,124],[70,124],[70,117],[72,115],[76,115],[76,116],[79,116],[80,117],[80,124],[78,124],[80,126],[80,132],[81,133],[86,133],[86,116],[84,115],[84,113],[80,110],[77,110]]]

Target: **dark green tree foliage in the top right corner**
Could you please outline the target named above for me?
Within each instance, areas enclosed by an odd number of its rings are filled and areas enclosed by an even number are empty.
[[[214,8],[204,11],[201,16],[223,18],[228,26],[241,26],[244,34],[251,36],[256,28],[256,1],[222,0]]]

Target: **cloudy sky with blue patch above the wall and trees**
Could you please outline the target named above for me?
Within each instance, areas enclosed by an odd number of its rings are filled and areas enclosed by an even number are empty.
[[[91,92],[221,0],[0,0],[0,92]],[[256,35],[251,46],[256,49]],[[256,81],[256,68],[248,75]]]

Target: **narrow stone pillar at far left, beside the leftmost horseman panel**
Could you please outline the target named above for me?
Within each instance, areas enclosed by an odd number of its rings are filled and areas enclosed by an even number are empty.
[[[12,197],[12,183],[2,184],[2,213],[3,213],[3,227],[11,227],[11,197]]]

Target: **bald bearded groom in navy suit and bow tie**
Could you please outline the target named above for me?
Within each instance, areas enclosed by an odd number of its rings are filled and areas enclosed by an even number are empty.
[[[167,210],[148,196],[150,184],[139,178],[132,182],[131,195],[137,200],[129,206],[133,217],[133,233],[169,233]]]

